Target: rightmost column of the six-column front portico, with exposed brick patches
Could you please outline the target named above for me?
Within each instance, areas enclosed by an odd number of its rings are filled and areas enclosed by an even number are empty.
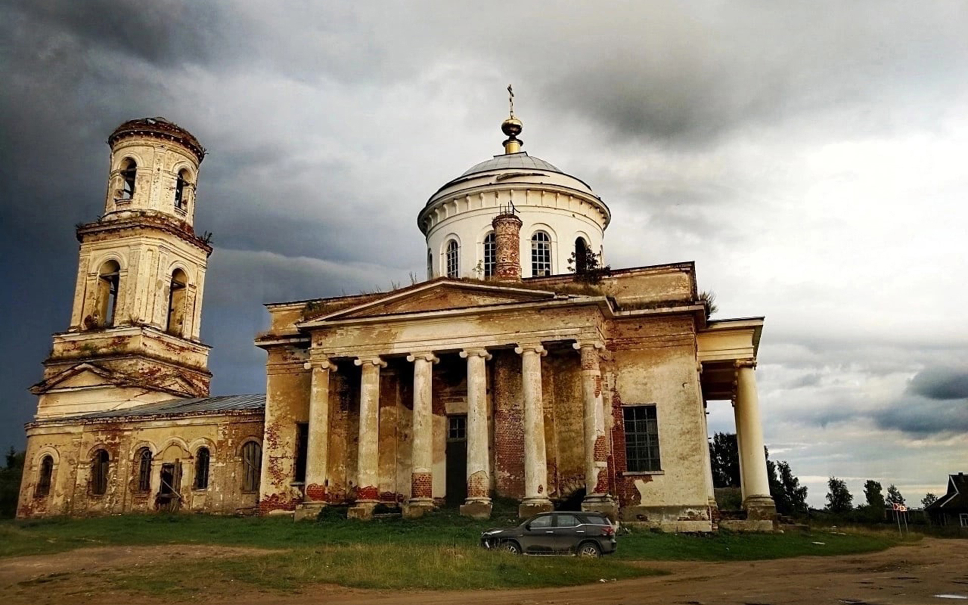
[[[618,515],[615,499],[608,493],[608,441],[602,406],[602,374],[598,364],[600,343],[575,343],[582,355],[582,407],[585,435],[585,499],[582,510]]]

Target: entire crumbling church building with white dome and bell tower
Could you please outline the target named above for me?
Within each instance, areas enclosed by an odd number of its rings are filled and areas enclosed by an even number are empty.
[[[71,322],[32,387],[17,515],[488,517],[501,498],[709,531],[706,409],[731,402],[746,524],[770,529],[763,318],[711,320],[692,262],[601,270],[608,206],[522,151],[513,113],[501,130],[504,153],[417,214],[427,281],[266,305],[266,394],[210,397],[205,150],[163,118],[119,126],[104,214],[77,227]]]

